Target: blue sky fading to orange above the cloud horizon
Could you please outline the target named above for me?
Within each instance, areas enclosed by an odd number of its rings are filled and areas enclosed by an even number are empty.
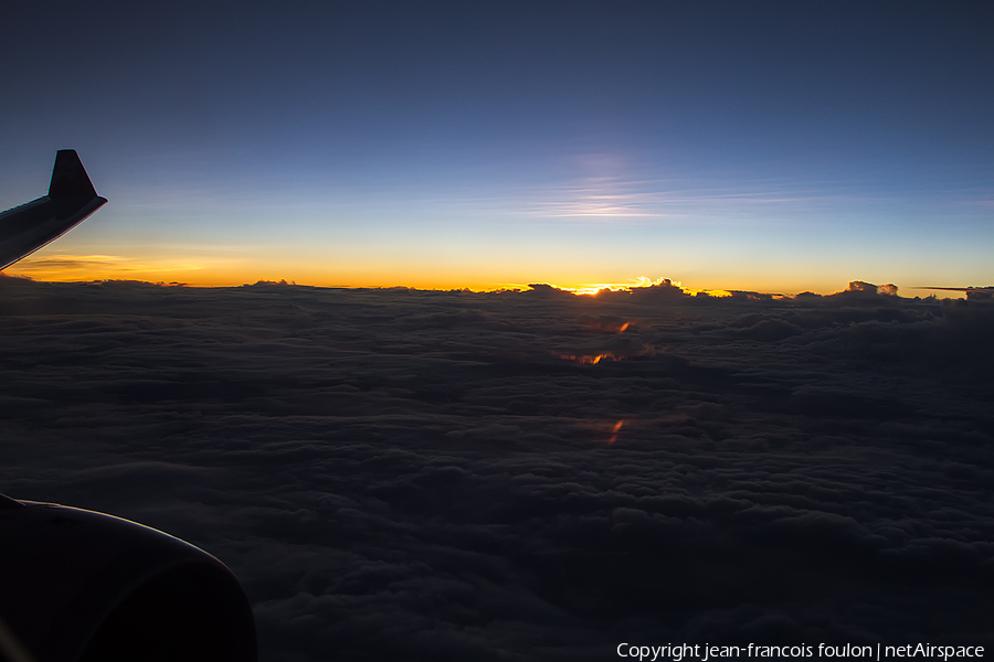
[[[994,282],[994,14],[920,2],[7,2],[43,280]],[[923,292],[922,292],[923,293]]]

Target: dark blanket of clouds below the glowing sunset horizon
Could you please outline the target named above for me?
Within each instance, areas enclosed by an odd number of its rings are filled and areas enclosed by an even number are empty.
[[[990,306],[656,287],[3,278],[0,484],[215,554],[267,660],[990,645]]]

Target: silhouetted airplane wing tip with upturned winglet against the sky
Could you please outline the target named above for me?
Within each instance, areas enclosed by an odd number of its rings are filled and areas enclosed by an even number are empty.
[[[59,150],[49,194],[0,214],[0,270],[54,242],[106,202],[76,151]]]

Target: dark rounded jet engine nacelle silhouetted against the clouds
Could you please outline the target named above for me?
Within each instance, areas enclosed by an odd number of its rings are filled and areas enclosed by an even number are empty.
[[[220,560],[120,517],[0,495],[0,660],[254,662]]]

